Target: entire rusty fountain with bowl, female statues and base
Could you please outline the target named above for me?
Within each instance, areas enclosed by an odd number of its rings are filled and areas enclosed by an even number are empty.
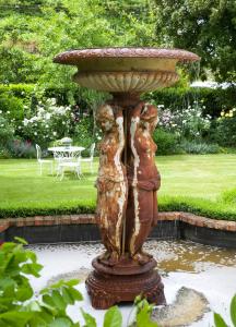
[[[54,59],[76,65],[73,80],[80,85],[113,95],[96,111],[104,132],[96,221],[106,252],[93,259],[94,271],[86,279],[95,308],[133,301],[140,293],[157,305],[166,303],[156,262],[142,250],[158,220],[161,177],[152,140],[157,109],[140,95],[174,84],[177,62],[199,59],[185,50],[157,48],[71,50]]]

